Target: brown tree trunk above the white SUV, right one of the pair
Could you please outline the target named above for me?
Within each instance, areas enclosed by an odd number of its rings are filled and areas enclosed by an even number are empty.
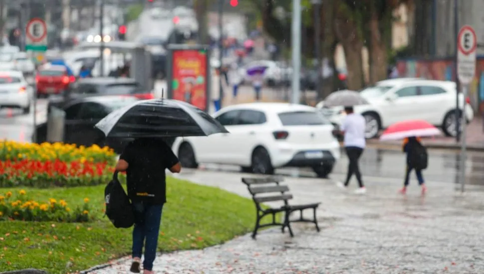
[[[370,84],[387,78],[387,44],[380,30],[379,16],[375,8],[371,8],[370,21]],[[391,11],[390,11],[391,12]]]

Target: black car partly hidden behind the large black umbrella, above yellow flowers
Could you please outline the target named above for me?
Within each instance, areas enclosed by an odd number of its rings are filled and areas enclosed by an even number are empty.
[[[130,139],[105,138],[101,131],[94,128],[94,125],[112,111],[137,100],[129,96],[91,96],[70,100],[62,106],[57,105],[56,107],[65,112],[64,142],[85,146],[107,145],[120,153]],[[51,106],[49,104],[48,108],[50,109]],[[38,125],[35,130],[38,143],[47,141],[47,123]]]

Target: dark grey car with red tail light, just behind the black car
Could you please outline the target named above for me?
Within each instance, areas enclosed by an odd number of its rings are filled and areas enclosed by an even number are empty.
[[[99,95],[129,95],[138,99],[154,99],[151,92],[140,89],[140,85],[133,78],[82,78],[73,85],[70,97],[88,97]]]

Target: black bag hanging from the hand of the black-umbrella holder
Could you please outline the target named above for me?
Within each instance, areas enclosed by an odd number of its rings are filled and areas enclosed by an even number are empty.
[[[104,200],[106,202],[106,216],[116,228],[129,228],[134,224],[133,206],[118,180],[118,172],[115,171],[113,179],[104,188]]]

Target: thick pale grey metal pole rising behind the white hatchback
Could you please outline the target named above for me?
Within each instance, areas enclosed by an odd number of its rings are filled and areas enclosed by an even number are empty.
[[[292,96],[291,103],[299,104],[301,90],[299,74],[301,72],[301,0],[292,1]]]

